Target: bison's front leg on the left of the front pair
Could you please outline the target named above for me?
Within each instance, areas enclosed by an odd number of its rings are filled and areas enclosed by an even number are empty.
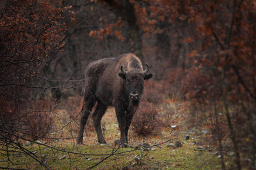
[[[117,106],[115,107],[115,112],[117,115],[117,121],[121,132],[120,142],[121,144],[127,144],[127,137],[125,137],[125,129],[127,127],[127,122],[124,116],[124,109],[120,106]]]

